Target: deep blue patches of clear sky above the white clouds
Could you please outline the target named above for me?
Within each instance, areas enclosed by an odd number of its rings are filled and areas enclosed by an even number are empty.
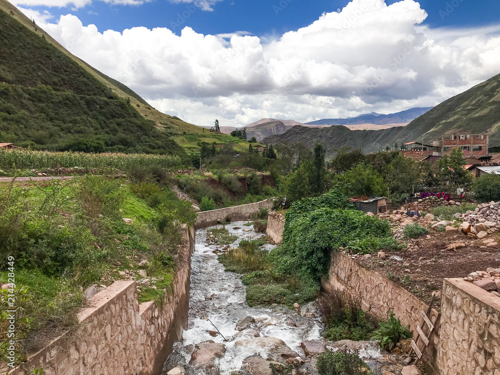
[[[179,33],[183,26],[189,26],[202,34],[248,31],[257,36],[266,36],[307,26],[322,12],[336,11],[348,2],[347,0],[222,0],[212,5],[211,11],[203,11],[199,7],[193,8],[192,4],[171,3],[167,0],[153,0],[141,5],[95,1],[77,9],[73,6],[32,8],[40,11],[48,10],[55,17],[71,13],[83,24],[93,23],[101,31],[107,29],[122,31],[126,28],[145,26],[175,28],[174,31]],[[388,5],[394,2],[397,1],[385,1]],[[418,2],[428,14],[424,24],[431,27],[465,27],[500,23],[500,0]],[[189,16],[184,18],[182,13]]]

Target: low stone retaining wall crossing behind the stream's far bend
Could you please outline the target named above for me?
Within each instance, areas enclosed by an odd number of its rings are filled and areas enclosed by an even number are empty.
[[[261,208],[271,209],[272,199],[261,200],[256,203],[242,204],[233,207],[212,209],[210,211],[198,212],[196,224],[194,227],[204,228],[211,225],[216,225],[218,222],[225,222],[227,219],[231,221],[246,220],[250,216],[258,214]]]

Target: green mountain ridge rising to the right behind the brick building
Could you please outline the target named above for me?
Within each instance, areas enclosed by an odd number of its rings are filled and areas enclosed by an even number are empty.
[[[267,144],[301,142],[312,147],[315,141],[331,156],[335,148],[359,148],[375,152],[404,142],[429,142],[449,132],[488,133],[489,146],[500,145],[500,74],[451,97],[415,118],[406,126],[382,130],[349,130],[337,125],[323,128],[294,126],[283,134],[262,140]]]

